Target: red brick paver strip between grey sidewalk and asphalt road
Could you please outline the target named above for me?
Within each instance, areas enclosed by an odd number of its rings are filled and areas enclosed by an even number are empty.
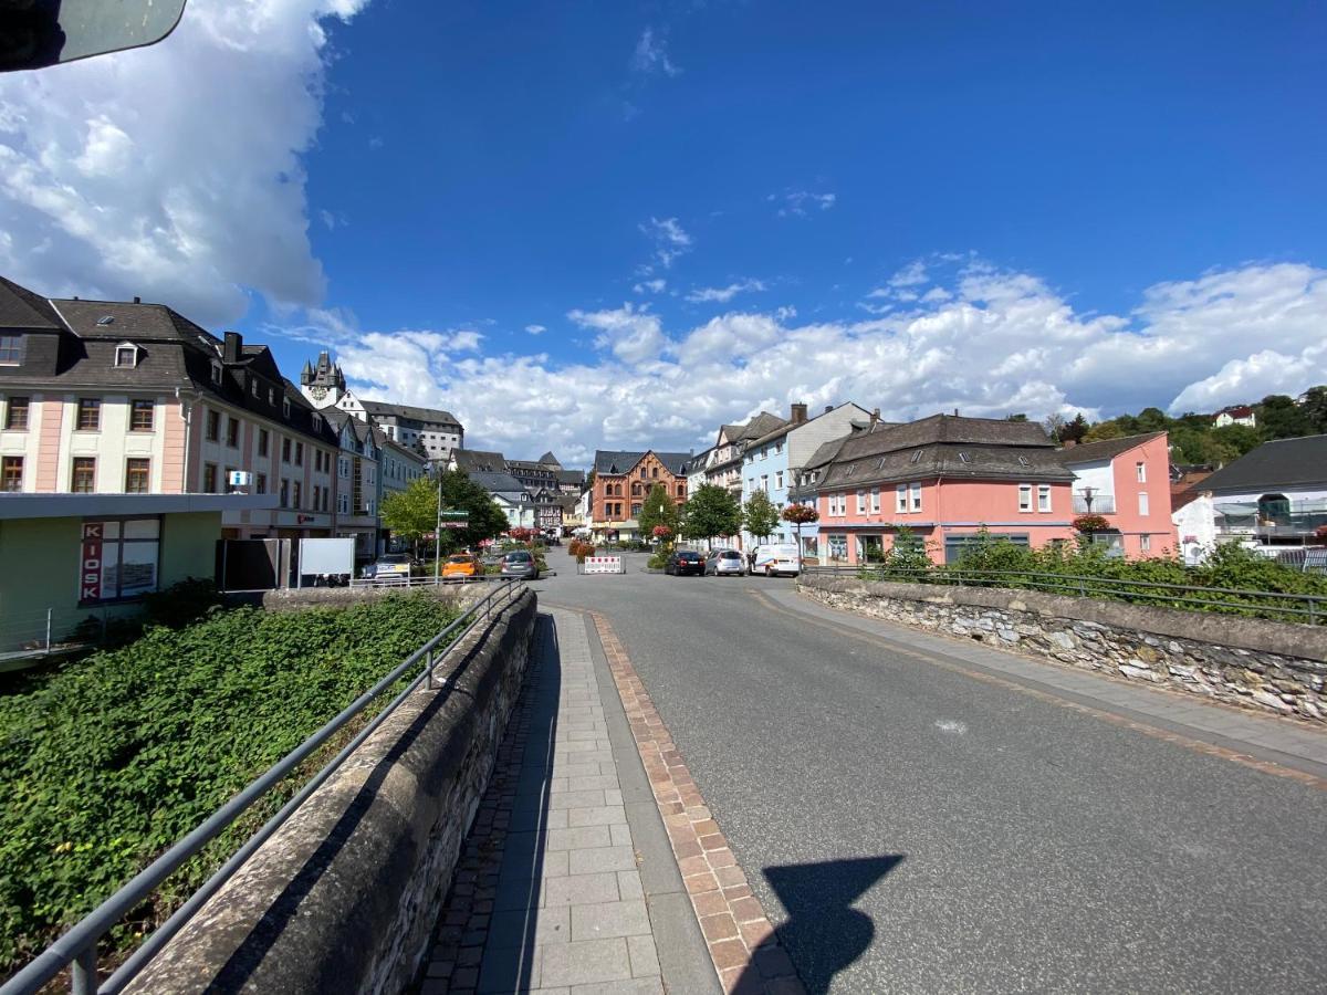
[[[686,768],[613,625],[591,612],[673,854],[725,991],[804,995],[760,901]],[[759,957],[756,953],[759,951]]]

